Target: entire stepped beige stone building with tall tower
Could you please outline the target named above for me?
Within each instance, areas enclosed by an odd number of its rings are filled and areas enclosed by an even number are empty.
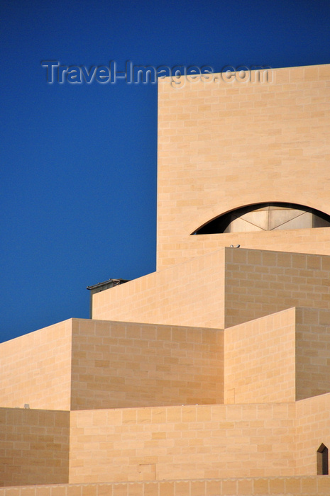
[[[0,345],[0,496],[329,496],[330,65],[158,94],[157,271]]]

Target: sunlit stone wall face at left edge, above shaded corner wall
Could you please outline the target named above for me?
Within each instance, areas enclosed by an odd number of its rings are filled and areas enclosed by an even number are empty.
[[[0,406],[70,410],[71,320],[0,344]]]

